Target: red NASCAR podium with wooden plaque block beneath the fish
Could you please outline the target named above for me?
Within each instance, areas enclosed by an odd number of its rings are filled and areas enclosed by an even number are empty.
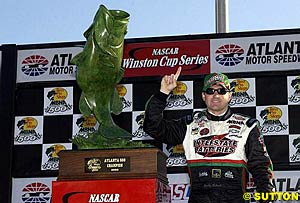
[[[166,159],[157,148],[63,150],[52,203],[170,203]]]

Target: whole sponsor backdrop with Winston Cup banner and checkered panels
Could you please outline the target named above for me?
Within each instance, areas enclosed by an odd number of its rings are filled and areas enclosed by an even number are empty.
[[[132,133],[133,140],[152,143],[168,155],[172,202],[187,202],[189,197],[183,148],[154,141],[143,131],[143,118],[146,101],[159,90],[161,76],[175,73],[178,66],[183,70],[165,118],[204,109],[204,75],[227,73],[234,91],[233,111],[260,122],[274,162],[277,188],[300,190],[300,34],[274,33],[126,40],[125,77],[117,88],[123,112],[113,118]],[[67,45],[18,47],[13,203],[50,202],[51,181],[59,169],[58,152],[76,150],[70,138],[85,137],[99,127],[93,115],[82,116],[78,109],[81,90],[75,80],[76,66],[70,60],[83,49],[84,42]]]

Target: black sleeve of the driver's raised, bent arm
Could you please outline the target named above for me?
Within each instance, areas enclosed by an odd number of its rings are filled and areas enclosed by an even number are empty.
[[[182,144],[186,133],[186,118],[166,120],[163,111],[167,104],[168,95],[157,93],[150,97],[145,108],[143,130],[160,142],[178,145]]]

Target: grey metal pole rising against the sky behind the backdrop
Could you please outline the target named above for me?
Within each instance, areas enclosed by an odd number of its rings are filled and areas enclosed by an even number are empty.
[[[227,0],[215,0],[216,33],[228,32],[228,6]]]

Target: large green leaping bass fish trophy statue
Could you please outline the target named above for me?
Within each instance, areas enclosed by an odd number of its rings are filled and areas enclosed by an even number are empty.
[[[94,115],[99,128],[87,137],[75,136],[78,149],[144,147],[131,141],[132,134],[117,126],[112,113],[122,112],[122,100],[116,89],[124,76],[122,68],[124,37],[129,14],[108,10],[100,5],[92,25],[84,32],[86,44],[71,62],[77,65],[76,81],[81,88],[79,110]]]

